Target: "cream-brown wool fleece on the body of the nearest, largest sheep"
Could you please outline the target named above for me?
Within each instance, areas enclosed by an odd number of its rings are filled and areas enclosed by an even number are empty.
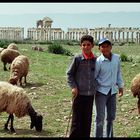
[[[18,118],[28,114],[31,105],[25,90],[5,81],[0,81],[0,112],[15,114]]]

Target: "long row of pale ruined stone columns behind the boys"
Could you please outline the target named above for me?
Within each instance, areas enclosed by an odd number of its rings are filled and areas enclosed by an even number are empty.
[[[140,43],[139,28],[68,28],[65,33],[61,28],[28,28],[27,38],[31,40],[77,40],[84,34],[90,34],[95,41],[102,37],[109,38],[112,42]],[[24,28],[0,27],[0,39],[23,40]]]

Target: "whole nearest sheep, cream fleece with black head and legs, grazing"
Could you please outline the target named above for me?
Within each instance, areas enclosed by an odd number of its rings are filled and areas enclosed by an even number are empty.
[[[35,127],[36,131],[42,130],[43,117],[35,112],[26,91],[6,81],[0,81],[0,112],[9,114],[4,125],[5,130],[8,130],[8,124],[11,120],[10,131],[15,132],[13,127],[14,115],[18,118],[29,115],[31,119],[30,128]]]

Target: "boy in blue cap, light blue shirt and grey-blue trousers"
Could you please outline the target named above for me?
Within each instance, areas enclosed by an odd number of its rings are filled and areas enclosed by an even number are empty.
[[[107,38],[99,41],[101,55],[96,60],[95,79],[97,93],[95,95],[95,137],[103,137],[103,126],[106,110],[106,136],[113,137],[113,120],[116,115],[116,93],[123,95],[123,80],[120,70],[119,56],[112,53],[112,44]],[[119,90],[117,89],[119,88]]]

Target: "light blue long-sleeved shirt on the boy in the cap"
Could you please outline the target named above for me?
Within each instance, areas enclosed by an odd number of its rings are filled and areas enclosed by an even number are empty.
[[[102,54],[97,58],[95,65],[95,79],[97,91],[107,95],[111,89],[111,94],[115,94],[119,88],[123,88],[120,69],[120,58],[117,54],[111,55],[111,61]]]

